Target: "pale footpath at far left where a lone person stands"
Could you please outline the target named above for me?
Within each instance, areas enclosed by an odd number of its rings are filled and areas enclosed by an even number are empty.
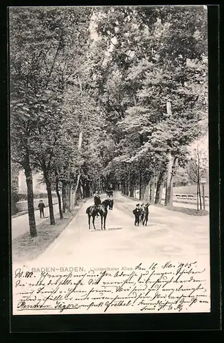
[[[54,214],[59,212],[58,204],[53,205],[53,212]],[[44,222],[45,220],[49,220],[49,207],[45,207],[45,218],[40,218],[40,211],[36,210],[35,213],[35,220],[36,220],[36,226],[38,226],[40,223]],[[24,215],[19,215],[18,217],[12,218],[12,240],[23,235],[29,231],[29,217],[28,213],[25,213]]]

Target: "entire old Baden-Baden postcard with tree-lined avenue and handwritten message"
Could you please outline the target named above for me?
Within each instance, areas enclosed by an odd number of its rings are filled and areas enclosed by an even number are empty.
[[[9,8],[13,315],[211,311],[208,67],[205,5]]]

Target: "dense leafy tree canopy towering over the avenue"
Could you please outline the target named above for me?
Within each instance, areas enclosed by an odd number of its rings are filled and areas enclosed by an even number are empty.
[[[32,171],[51,224],[52,190],[61,217],[109,184],[160,202],[165,182],[171,204],[207,130],[207,60],[203,6],[11,8],[12,161],[25,170],[32,235]]]

